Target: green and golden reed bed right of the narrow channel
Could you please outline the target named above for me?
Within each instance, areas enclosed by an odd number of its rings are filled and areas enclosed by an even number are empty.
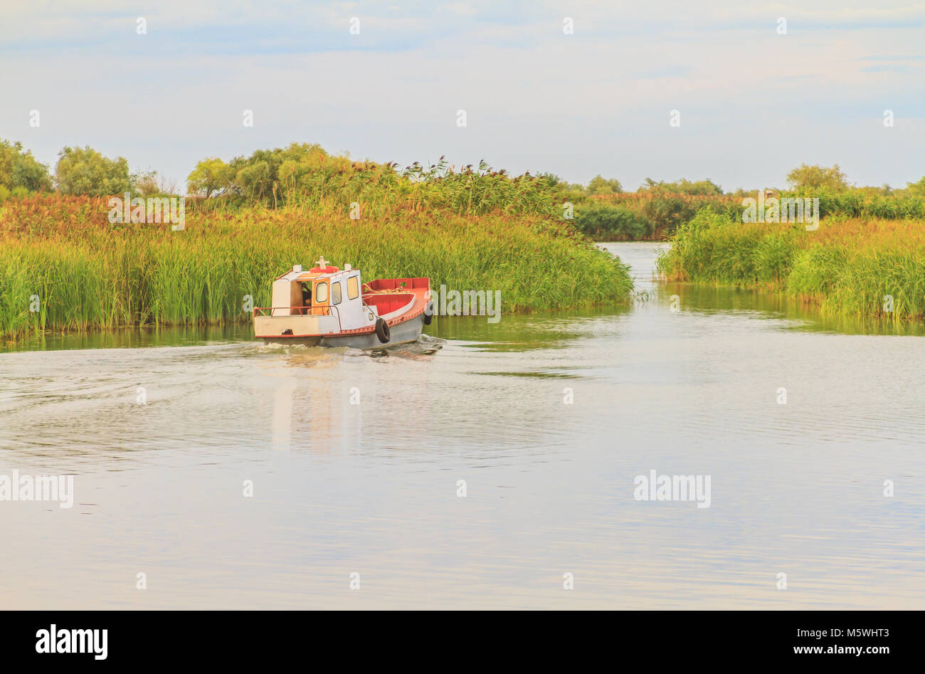
[[[703,210],[658,266],[669,281],[766,288],[831,315],[925,318],[923,220],[831,219],[807,231]]]

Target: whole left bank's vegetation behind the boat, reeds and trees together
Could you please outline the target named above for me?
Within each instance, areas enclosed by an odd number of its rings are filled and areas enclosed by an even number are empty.
[[[561,218],[550,181],[485,162],[398,168],[316,144],[210,157],[188,178],[179,229],[131,222],[122,207],[109,218],[109,195],[174,192],[153,171],[130,174],[122,157],[66,147],[52,193],[47,167],[19,144],[3,149],[7,163],[44,175],[0,205],[6,338],[246,321],[244,307],[269,304],[278,274],[319,256],[368,280],[429,276],[434,287],[498,290],[505,312],[621,303],[632,291],[627,268]]]

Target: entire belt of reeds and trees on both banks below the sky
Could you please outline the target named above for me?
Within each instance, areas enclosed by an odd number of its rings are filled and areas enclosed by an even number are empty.
[[[744,224],[743,199],[759,192],[709,180],[647,179],[625,192],[599,175],[583,186],[443,157],[399,168],[290,144],[200,161],[185,227],[173,231],[107,218],[109,194],[176,194],[156,172],[66,147],[53,174],[0,142],[0,335],[244,321],[245,297],[267,304],[272,278],[322,255],[367,279],[500,290],[505,311],[592,306],[632,291],[627,268],[592,241],[665,238],[660,268],[673,280],[765,286],[832,311],[923,314],[925,179],[855,187],[837,165],[802,165],[787,181],[761,197],[819,199],[819,230]]]

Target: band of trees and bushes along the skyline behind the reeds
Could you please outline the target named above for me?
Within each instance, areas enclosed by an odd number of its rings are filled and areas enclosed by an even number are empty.
[[[902,189],[856,187],[838,165],[803,164],[786,181],[783,191],[723,192],[710,180],[646,179],[635,192],[627,192],[621,181],[600,175],[582,185],[552,173],[510,176],[484,161],[456,168],[442,156],[429,166],[399,168],[331,155],[318,144],[293,143],[228,161],[204,158],[187,178],[186,195],[189,207],[199,210],[301,206],[346,212],[359,206],[367,215],[396,209],[536,215],[570,220],[593,241],[662,241],[703,208],[741,220],[743,200],[759,192],[818,198],[822,218],[925,218],[925,178]],[[156,171],[130,173],[123,157],[108,158],[90,147],[63,148],[52,175],[21,144],[0,142],[0,205],[49,191],[53,184],[67,194],[177,194],[176,186]]]

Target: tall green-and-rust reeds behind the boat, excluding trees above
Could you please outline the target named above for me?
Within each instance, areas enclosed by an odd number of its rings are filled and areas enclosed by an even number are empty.
[[[271,281],[319,256],[365,280],[499,290],[503,312],[628,300],[627,268],[566,224],[528,215],[252,206],[188,213],[185,229],[108,222],[105,198],[44,195],[0,211],[0,335],[250,320]],[[34,300],[38,298],[38,311]]]

